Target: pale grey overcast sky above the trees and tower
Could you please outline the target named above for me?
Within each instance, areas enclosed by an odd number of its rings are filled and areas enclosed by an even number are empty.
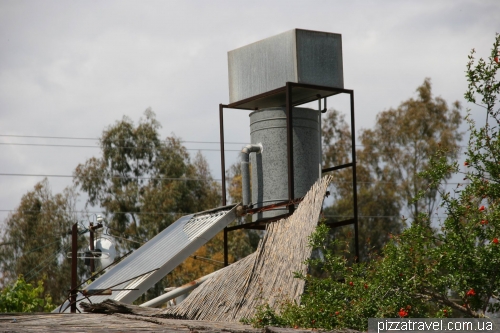
[[[357,130],[415,97],[426,77],[436,96],[483,119],[463,99],[464,71],[472,48],[489,54],[499,17],[497,0],[0,0],[0,223],[43,175],[72,175],[99,156],[103,130],[123,116],[137,123],[148,107],[162,138],[205,142],[185,145],[193,156],[201,149],[220,179],[227,52],[294,28],[342,34]],[[348,111],[342,98],[328,106]],[[225,112],[225,141],[238,143],[227,146],[226,165],[237,160],[229,150],[249,142],[248,126],[247,111]],[[54,193],[72,184],[48,180]]]

